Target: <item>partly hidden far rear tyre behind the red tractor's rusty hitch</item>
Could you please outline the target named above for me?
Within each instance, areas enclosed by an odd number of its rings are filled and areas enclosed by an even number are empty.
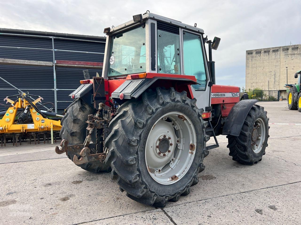
[[[67,139],[69,145],[83,144],[86,138],[86,127],[87,119],[89,114],[94,114],[95,110],[90,107],[85,101],[80,98],[75,99],[67,108],[67,113],[61,120],[61,139]],[[81,149],[79,149],[75,154],[74,152],[68,152],[67,156],[73,161],[74,155],[80,157]],[[99,172],[110,172],[110,166],[100,161],[92,161],[89,163],[79,165],[84,170],[93,173]]]

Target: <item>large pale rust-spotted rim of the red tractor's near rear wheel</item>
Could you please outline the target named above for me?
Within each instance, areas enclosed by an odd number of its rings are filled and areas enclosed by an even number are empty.
[[[194,159],[196,133],[183,113],[166,113],[155,122],[145,146],[148,173],[160,184],[173,184],[182,179]]]

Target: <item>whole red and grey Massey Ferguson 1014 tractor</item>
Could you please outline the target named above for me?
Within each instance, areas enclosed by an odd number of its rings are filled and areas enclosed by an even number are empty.
[[[86,76],[70,94],[58,154],[84,170],[111,172],[127,196],[156,207],[190,193],[203,159],[219,147],[217,135],[227,135],[233,160],[262,160],[266,111],[257,100],[239,101],[240,88],[215,84],[212,49],[220,38],[149,12],[104,33],[102,76]]]

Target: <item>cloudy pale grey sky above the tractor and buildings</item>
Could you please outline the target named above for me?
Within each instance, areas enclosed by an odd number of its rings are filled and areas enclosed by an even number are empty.
[[[301,1],[22,0],[0,3],[0,27],[104,36],[132,15],[160,14],[221,38],[213,52],[216,83],[245,85],[246,50],[301,42]]]

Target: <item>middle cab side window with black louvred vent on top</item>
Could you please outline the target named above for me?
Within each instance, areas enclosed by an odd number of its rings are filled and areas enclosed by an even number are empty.
[[[178,29],[178,33],[176,30]],[[181,74],[179,28],[159,23],[157,29],[158,73]]]

